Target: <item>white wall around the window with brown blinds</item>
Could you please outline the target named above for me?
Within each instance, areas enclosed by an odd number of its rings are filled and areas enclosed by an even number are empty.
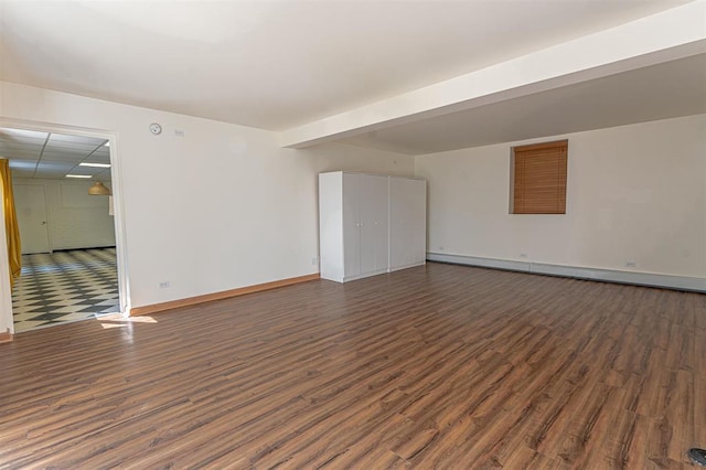
[[[510,148],[558,138],[566,215],[509,214]],[[419,156],[416,174],[431,253],[706,278],[705,115]]]

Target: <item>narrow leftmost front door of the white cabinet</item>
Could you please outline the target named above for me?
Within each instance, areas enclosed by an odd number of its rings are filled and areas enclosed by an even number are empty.
[[[343,276],[361,274],[361,175],[343,173]]]

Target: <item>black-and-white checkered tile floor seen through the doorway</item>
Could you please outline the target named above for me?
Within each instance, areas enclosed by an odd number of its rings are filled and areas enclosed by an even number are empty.
[[[12,290],[15,332],[119,310],[115,248],[22,256]]]

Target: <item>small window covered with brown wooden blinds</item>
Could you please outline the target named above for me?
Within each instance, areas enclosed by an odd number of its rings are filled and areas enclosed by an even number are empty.
[[[511,214],[566,214],[568,140],[513,148]]]

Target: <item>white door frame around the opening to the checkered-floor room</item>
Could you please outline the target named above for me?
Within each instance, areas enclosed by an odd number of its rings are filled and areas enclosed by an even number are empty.
[[[50,122],[38,122],[38,121],[29,121],[23,119],[9,119],[0,117],[0,127],[12,127],[18,129],[26,129],[26,130],[36,130],[43,132],[56,132],[56,133],[68,133],[74,136],[84,136],[84,137],[96,137],[100,139],[106,139],[110,141],[109,152],[110,152],[110,175],[111,175],[111,192],[113,192],[113,206],[114,206],[114,226],[115,226],[115,242],[116,242],[116,260],[118,267],[118,297],[119,297],[119,306],[120,313],[124,316],[130,314],[130,282],[128,276],[128,252],[127,252],[127,243],[126,243],[126,229],[125,229],[125,207],[122,203],[122,169],[120,161],[120,142],[118,139],[118,132],[105,130],[105,129],[92,129],[86,127],[77,127],[77,126],[65,126],[58,124],[50,124]],[[2,204],[0,204],[0,216],[4,216],[2,214]],[[4,238],[4,223],[0,225],[2,228],[2,238]],[[0,257],[0,269],[4,273],[8,273],[9,261],[7,256]],[[4,282],[0,282],[0,305],[2,305],[2,300],[12,305],[12,291],[10,286],[3,286]],[[3,309],[4,310],[4,309]],[[12,320],[12,310],[10,309],[7,313],[0,313],[6,316],[3,320],[6,320],[7,324],[10,328],[10,334],[14,334],[14,323]],[[0,322],[2,323],[2,322]]]

